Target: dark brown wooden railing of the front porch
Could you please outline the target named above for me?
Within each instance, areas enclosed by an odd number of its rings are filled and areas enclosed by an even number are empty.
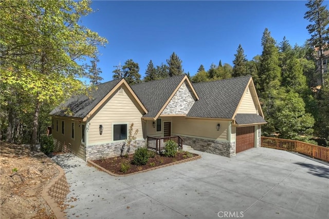
[[[175,141],[178,145],[178,149],[183,149],[183,140],[179,136],[169,136],[169,137],[150,137],[148,136],[148,149],[154,150],[157,153],[161,153],[165,150],[167,141]]]

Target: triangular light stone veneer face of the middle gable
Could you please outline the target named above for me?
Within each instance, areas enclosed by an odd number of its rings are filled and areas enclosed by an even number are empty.
[[[180,86],[166,108],[163,109],[161,115],[186,115],[190,111],[195,102],[195,97],[194,95],[192,96],[193,93],[190,86],[186,82],[184,84],[185,87],[182,86],[183,84]]]

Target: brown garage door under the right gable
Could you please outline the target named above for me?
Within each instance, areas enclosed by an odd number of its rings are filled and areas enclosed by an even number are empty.
[[[254,126],[236,128],[236,151],[239,153],[254,147]]]

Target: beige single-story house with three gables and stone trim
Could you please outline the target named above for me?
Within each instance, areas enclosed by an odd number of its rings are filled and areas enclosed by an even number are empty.
[[[266,121],[250,76],[192,84],[183,75],[132,86],[119,79],[96,87],[50,113],[58,150],[84,160],[118,156],[131,123],[136,145],[150,149],[168,139],[227,157],[260,147]]]

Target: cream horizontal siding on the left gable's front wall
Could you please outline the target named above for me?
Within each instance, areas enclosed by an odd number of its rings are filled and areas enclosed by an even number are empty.
[[[108,143],[113,141],[112,126],[114,123],[134,123],[134,131],[138,129],[137,139],[143,138],[141,110],[135,99],[130,95],[126,87],[123,93],[118,90],[89,120],[88,145]],[[103,133],[99,133],[99,125],[103,125]]]

